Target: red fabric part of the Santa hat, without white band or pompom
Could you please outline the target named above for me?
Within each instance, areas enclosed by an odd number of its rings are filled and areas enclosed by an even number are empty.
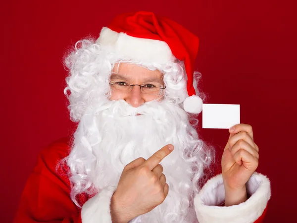
[[[131,37],[165,41],[172,54],[185,63],[189,96],[196,94],[193,86],[194,64],[199,46],[196,35],[168,18],[145,11],[118,15],[108,28],[117,33],[126,33]]]

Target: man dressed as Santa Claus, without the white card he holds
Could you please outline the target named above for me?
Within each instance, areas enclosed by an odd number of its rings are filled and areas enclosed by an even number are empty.
[[[65,58],[77,130],[42,151],[14,222],[261,222],[270,183],[250,125],[229,129],[222,174],[202,185],[214,150],[195,129],[197,52],[198,37],[143,11],[78,41]]]

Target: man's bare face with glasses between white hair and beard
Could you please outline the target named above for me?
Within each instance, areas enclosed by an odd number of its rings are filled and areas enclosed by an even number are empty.
[[[123,99],[135,108],[152,100],[162,100],[163,74],[158,70],[129,63],[115,64],[110,84],[110,100]]]

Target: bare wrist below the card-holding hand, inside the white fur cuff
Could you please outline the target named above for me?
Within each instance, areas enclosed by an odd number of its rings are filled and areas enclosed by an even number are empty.
[[[225,206],[238,205],[247,201],[247,187],[230,188],[225,186]]]

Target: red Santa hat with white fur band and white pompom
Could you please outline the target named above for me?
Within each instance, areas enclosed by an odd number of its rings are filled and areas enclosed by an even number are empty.
[[[139,11],[115,17],[108,27],[102,28],[97,42],[132,60],[152,64],[165,64],[176,58],[183,61],[189,95],[184,100],[184,110],[201,112],[202,100],[193,86],[199,39],[189,30],[168,18]]]

